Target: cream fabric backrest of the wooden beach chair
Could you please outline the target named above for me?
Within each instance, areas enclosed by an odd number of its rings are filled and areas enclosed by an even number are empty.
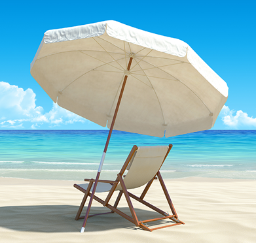
[[[124,177],[126,189],[132,189],[147,184],[158,172],[169,146],[143,146],[138,147],[132,157],[127,174]],[[122,190],[120,184],[117,190]]]

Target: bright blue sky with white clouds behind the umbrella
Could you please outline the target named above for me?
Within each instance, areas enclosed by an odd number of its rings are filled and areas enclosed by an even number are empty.
[[[45,31],[103,20],[187,42],[229,86],[213,129],[256,129],[255,10],[255,1],[5,1],[0,129],[103,129],[54,105],[29,71]]]

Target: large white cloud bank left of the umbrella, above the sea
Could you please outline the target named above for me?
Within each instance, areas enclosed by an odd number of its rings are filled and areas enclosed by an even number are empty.
[[[86,120],[53,103],[52,109],[45,112],[43,107],[35,105],[35,93],[7,82],[0,82],[0,128],[26,128],[24,123],[30,123],[31,129],[84,123]],[[31,124],[32,123],[32,124]]]

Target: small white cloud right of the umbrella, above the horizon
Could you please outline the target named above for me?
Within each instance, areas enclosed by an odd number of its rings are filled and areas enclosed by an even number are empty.
[[[230,110],[229,106],[223,106],[221,110],[221,120],[223,123],[232,129],[255,129],[256,118],[249,117],[242,110]]]

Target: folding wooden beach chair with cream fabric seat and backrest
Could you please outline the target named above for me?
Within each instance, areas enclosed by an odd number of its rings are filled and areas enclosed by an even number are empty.
[[[103,204],[103,206],[111,210],[111,212],[105,212],[102,214],[111,214],[115,212],[120,216],[122,216],[123,218],[128,219],[130,222],[134,223],[137,227],[140,227],[141,229],[146,231],[154,231],[156,229],[184,224],[182,221],[179,220],[177,216],[174,205],[172,204],[172,200],[170,199],[170,196],[168,194],[168,191],[166,189],[162,176],[159,172],[162,164],[164,163],[164,160],[166,159],[171,149],[172,149],[172,144],[170,144],[169,146],[143,146],[143,147],[134,146],[130,154],[128,155],[124,165],[122,166],[122,169],[120,170],[119,174],[117,174],[117,179],[116,180],[99,180],[98,182],[98,185],[96,187],[96,193],[109,191],[105,200],[100,199],[99,197],[96,197],[96,195],[94,195],[94,198],[93,198],[94,200],[100,202],[101,204]],[[124,175],[124,172],[126,170],[128,170],[128,172],[126,175]],[[160,210],[159,208],[156,208],[156,206],[153,206],[149,202],[143,200],[147,191],[149,190],[149,187],[151,186],[153,181],[156,179],[159,180],[160,185],[162,186],[164,195],[166,196],[167,202],[170,206],[170,209],[172,210],[172,215],[168,214],[168,212],[164,212],[163,210]],[[86,218],[84,220],[87,220],[88,217],[100,215],[100,214],[94,214],[94,215],[88,216],[88,212],[86,212],[85,217],[80,217],[82,208],[84,207],[87,197],[88,196],[90,197],[91,191],[93,189],[94,182],[95,182],[94,179],[84,179],[84,181],[88,183],[80,184],[80,185],[74,184],[75,188],[79,189],[84,193],[84,197],[82,199],[81,206],[79,207],[75,220],[82,219],[82,218]],[[137,197],[136,195],[128,191],[128,189],[137,188],[145,184],[147,184],[147,186],[145,187],[145,189],[143,190],[143,192],[139,197]],[[119,195],[117,196],[115,204],[112,206],[111,204],[109,204],[109,200],[111,199],[114,191],[119,191]],[[126,198],[132,217],[128,216],[127,214],[124,214],[124,212],[121,212],[119,209],[117,209],[117,206],[119,204],[120,198],[122,197],[122,194],[124,194]],[[155,210],[156,212],[161,214],[162,217],[139,221],[137,219],[137,215],[134,210],[134,206],[132,205],[131,199],[135,199],[136,201],[141,202],[145,206],[148,206],[149,208]],[[151,229],[147,226],[147,223],[151,221],[158,221],[161,219],[170,219],[171,220],[170,224],[168,223],[168,225],[164,225],[162,227],[155,227]]]

